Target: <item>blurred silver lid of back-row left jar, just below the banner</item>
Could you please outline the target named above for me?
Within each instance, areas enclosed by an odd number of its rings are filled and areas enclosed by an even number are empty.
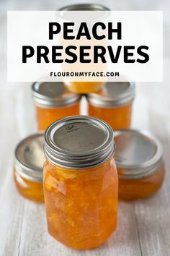
[[[53,108],[70,106],[80,100],[81,95],[71,93],[63,82],[35,82],[32,97],[38,106]]]

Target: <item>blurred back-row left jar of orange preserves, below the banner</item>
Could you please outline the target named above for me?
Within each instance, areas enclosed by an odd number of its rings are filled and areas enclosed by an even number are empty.
[[[79,115],[81,95],[68,91],[62,82],[35,82],[32,97],[39,131],[45,130],[53,121]]]

